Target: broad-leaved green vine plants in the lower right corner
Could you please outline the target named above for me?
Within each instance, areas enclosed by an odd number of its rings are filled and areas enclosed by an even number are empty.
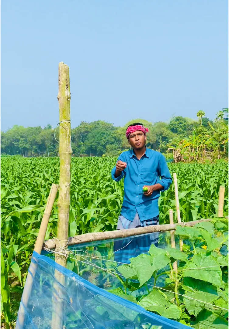
[[[118,294],[126,294],[130,300],[136,282],[133,279],[137,277],[139,286],[136,289],[144,284],[148,292],[142,296],[135,289],[135,300],[132,301],[146,310],[194,328],[227,328],[228,275],[225,276],[224,271],[226,269],[228,274],[228,257],[221,254],[221,244],[211,252],[206,250],[209,237],[206,238],[202,232],[206,231],[213,239],[221,237],[224,240],[224,230],[217,231],[216,228],[219,221],[226,223],[225,219],[218,219],[194,227],[178,226],[175,233],[181,238],[188,237],[192,249],[184,245],[184,251],[181,252],[171,247],[160,249],[151,245],[149,255],[141,254],[130,258],[130,265],[118,266],[118,271],[127,280],[121,280],[124,289],[119,288]],[[228,230],[228,227],[225,229]],[[177,271],[172,269],[175,260]],[[170,269],[166,267],[167,264]],[[160,269],[163,271],[158,271]],[[161,288],[156,284],[160,276],[163,276],[164,283],[167,282]],[[154,286],[148,284],[151,277],[155,279]],[[110,292],[117,294],[116,291]]]

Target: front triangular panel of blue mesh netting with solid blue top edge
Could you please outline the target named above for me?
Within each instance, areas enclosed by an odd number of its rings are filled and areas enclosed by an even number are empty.
[[[56,278],[58,276],[60,281]],[[57,318],[58,329],[186,328],[93,285],[36,252],[31,259],[27,281],[29,277],[32,284],[25,286],[23,291],[17,329],[57,329],[52,326],[52,319]]]

